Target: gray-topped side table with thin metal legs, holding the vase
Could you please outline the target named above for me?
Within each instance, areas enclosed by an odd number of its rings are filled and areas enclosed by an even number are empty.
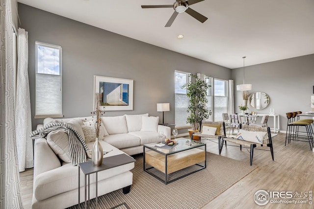
[[[98,204],[98,172],[104,171],[110,168],[118,167],[120,165],[125,165],[131,162],[135,162],[136,160],[126,154],[120,154],[111,157],[105,157],[103,160],[103,164],[101,166],[93,166],[92,161],[82,162],[78,164],[78,208],[79,206],[79,195],[80,195],[80,172],[81,170],[85,175],[85,209],[87,208],[86,204],[86,177],[88,176],[88,202],[89,202],[89,175],[95,173],[96,175],[96,208]]]

